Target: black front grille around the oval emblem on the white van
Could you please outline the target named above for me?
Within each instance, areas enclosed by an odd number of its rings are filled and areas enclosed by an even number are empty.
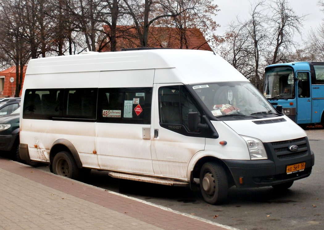
[[[308,150],[307,141],[305,137],[292,140],[271,142],[271,145],[278,159],[288,159],[306,155]],[[291,145],[298,146],[298,149],[295,152],[290,151],[289,147]]]

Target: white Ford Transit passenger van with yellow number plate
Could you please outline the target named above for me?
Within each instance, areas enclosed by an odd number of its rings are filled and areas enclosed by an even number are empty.
[[[227,103],[216,104],[221,97]],[[70,178],[97,169],[129,180],[200,183],[215,204],[233,185],[288,188],[314,165],[305,131],[209,51],[32,59],[22,104],[21,159],[49,163]]]

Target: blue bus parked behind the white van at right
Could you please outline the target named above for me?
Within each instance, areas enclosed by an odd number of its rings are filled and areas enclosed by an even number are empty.
[[[290,62],[265,68],[264,96],[300,126],[324,125],[324,62]]]

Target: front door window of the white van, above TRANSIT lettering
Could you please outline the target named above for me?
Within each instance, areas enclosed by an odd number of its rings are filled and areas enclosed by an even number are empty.
[[[189,132],[188,114],[201,112],[195,104],[195,100],[184,86],[166,86],[159,88],[159,115],[162,125],[181,125]],[[164,126],[168,127],[168,126]],[[179,133],[183,131],[175,130]]]

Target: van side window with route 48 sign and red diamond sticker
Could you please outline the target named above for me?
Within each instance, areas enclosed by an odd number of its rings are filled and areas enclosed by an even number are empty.
[[[152,88],[101,88],[97,121],[151,124]]]

